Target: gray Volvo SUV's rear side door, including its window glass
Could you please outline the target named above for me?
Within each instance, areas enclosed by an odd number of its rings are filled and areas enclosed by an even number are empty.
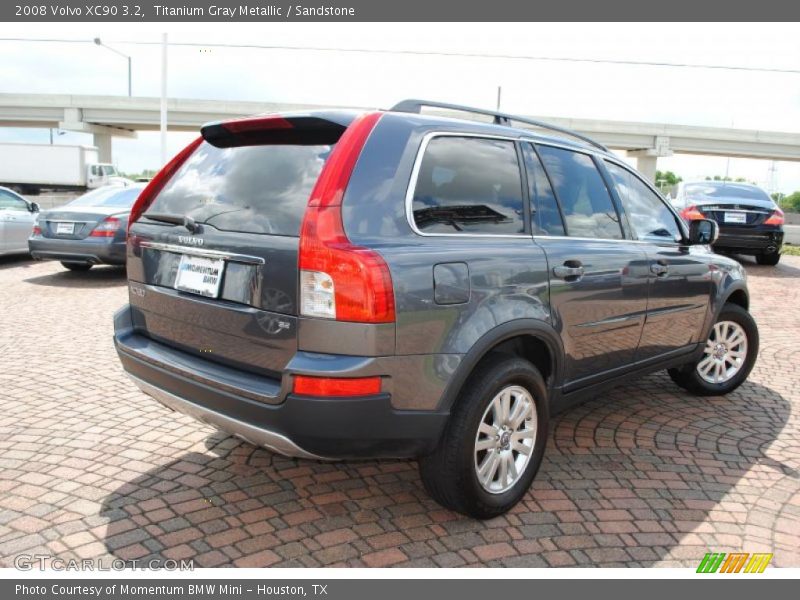
[[[547,254],[553,323],[564,342],[570,391],[634,361],[647,306],[647,257],[623,238],[590,154],[524,146],[534,240]]]

